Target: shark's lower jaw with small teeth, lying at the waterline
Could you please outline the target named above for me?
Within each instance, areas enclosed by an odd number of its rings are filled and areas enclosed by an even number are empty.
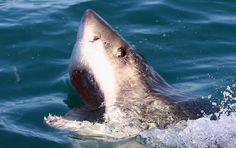
[[[75,121],[68,120],[61,116],[49,115],[44,118],[44,121],[54,127],[63,130],[72,131],[78,138],[86,139],[102,139],[102,140],[120,140],[123,138],[130,138],[138,135],[142,130],[139,127],[132,127],[128,125],[118,124],[118,122],[89,122],[89,121]]]

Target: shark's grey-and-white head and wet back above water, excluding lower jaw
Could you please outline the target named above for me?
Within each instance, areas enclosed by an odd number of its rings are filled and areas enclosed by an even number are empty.
[[[169,85],[90,9],[80,23],[69,74],[86,106],[72,109],[64,116],[67,119],[114,121],[145,130],[167,128],[180,120],[218,111],[207,100],[183,94]]]

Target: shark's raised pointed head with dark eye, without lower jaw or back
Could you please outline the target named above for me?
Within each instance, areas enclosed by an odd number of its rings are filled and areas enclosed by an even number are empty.
[[[69,65],[71,82],[85,103],[127,105],[145,98],[154,83],[167,85],[145,60],[93,10],[80,22]]]

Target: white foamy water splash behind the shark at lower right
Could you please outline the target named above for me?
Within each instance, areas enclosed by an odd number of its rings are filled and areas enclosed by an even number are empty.
[[[197,147],[197,148],[234,148],[236,145],[236,84],[227,86],[221,92],[219,104],[220,119],[210,120],[209,117],[197,120],[181,121],[165,129],[144,131],[137,136],[137,141],[148,147]],[[212,95],[209,95],[212,98]]]

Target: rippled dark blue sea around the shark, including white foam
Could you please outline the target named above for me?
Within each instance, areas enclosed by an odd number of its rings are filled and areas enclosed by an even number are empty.
[[[234,114],[116,142],[80,139],[45,124],[49,113],[63,115],[82,104],[70,85],[67,65],[87,8],[103,16],[170,84],[235,109],[233,0],[1,1],[0,147],[142,147],[136,141],[147,146],[234,147]]]

